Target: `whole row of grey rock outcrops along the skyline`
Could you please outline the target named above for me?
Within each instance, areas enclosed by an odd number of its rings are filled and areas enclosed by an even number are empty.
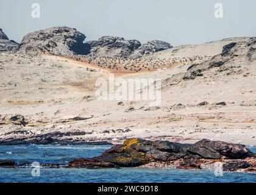
[[[19,45],[9,41],[0,30],[0,51],[18,49],[19,54],[51,54],[62,57],[90,55],[93,57],[125,57],[137,59],[143,55],[152,54],[171,48],[165,41],[149,41],[141,45],[138,40],[125,40],[122,37],[105,36],[97,41],[87,41],[86,36],[70,27],[51,27],[27,34]]]

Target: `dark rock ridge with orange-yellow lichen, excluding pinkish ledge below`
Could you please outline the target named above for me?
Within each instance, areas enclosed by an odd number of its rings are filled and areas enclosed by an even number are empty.
[[[155,161],[221,160],[247,157],[256,157],[256,155],[240,144],[210,140],[201,140],[195,144],[180,144],[135,138],[124,141],[124,144],[113,146],[99,157],[74,159],[69,163],[69,168],[117,168],[141,166]]]

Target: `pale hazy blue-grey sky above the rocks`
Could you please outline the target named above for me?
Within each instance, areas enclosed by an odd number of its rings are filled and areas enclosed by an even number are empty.
[[[215,18],[215,4],[224,18]],[[40,4],[40,18],[31,5]],[[256,36],[256,0],[0,0],[0,28],[20,42],[34,30],[74,27],[86,40],[104,35],[196,44],[227,37]]]

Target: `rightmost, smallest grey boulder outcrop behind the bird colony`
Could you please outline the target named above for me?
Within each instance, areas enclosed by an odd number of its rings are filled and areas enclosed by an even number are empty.
[[[143,44],[138,48],[131,56],[132,59],[137,59],[143,55],[152,54],[154,52],[163,51],[172,48],[171,44],[165,41],[148,41],[148,43]]]

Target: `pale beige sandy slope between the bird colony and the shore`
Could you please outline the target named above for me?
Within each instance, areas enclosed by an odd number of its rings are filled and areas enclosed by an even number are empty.
[[[205,59],[208,59],[219,54],[222,46],[230,41],[179,46],[153,54],[151,58],[207,55]],[[122,101],[118,105],[118,100],[96,99],[96,79],[108,79],[109,71],[91,63],[15,54],[0,54],[0,63],[1,118],[18,113],[29,121],[21,127],[0,120],[0,138],[59,130],[84,131],[87,134],[73,138],[113,143],[143,137],[187,143],[209,138],[256,145],[256,66],[239,74],[215,75],[209,71],[205,77],[171,85],[168,79],[185,73],[190,63],[148,73],[115,74],[124,79],[162,79],[160,107],[151,107],[148,101]],[[208,104],[199,105],[204,101]],[[216,105],[218,102],[226,105]],[[88,119],[73,119],[76,116]],[[23,131],[19,133],[19,130]]]

